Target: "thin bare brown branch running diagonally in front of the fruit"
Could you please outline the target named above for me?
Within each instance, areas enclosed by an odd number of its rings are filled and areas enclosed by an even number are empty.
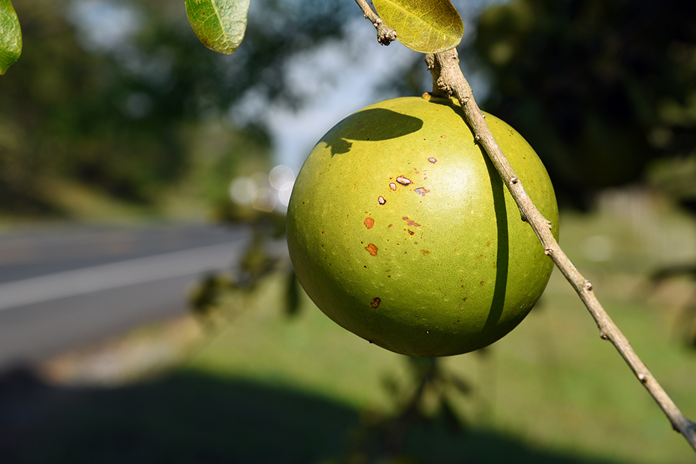
[[[541,241],[544,253],[549,255],[578,293],[582,303],[585,303],[587,310],[589,310],[597,323],[600,337],[612,342],[617,351],[626,360],[628,366],[631,367],[640,383],[644,385],[658,403],[658,406],[667,415],[667,418],[670,419],[674,430],[681,433],[696,451],[696,424],[681,413],[681,410],[676,407],[674,401],[652,376],[644,362],[633,351],[628,339],[621,333],[621,330],[614,324],[609,314],[599,303],[589,280],[580,274],[558,245],[551,233],[550,222],[543,217],[539,209],[536,209],[534,202],[527,195],[522,182],[520,182],[512,166],[505,158],[493,134],[490,133],[484,114],[474,101],[471,87],[461,72],[456,49],[439,54],[428,54],[426,55],[426,64],[433,74],[433,95],[454,95],[459,100],[464,110],[465,120],[474,131],[474,138],[486,150],[490,161],[493,162],[495,169],[520,208],[523,221],[532,226],[536,237],[539,237],[539,241]]]

